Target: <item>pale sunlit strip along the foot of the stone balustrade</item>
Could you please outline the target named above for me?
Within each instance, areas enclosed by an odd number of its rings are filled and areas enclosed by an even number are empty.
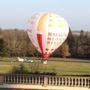
[[[65,87],[65,86],[42,86],[42,85],[22,85],[22,84],[3,84],[1,88],[28,89],[28,90],[90,90],[85,87]]]

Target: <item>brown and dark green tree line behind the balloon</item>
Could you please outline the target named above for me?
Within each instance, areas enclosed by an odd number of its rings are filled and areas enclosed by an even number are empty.
[[[40,53],[32,45],[25,30],[0,28],[0,56],[39,57]],[[90,59],[90,32],[81,30],[75,34],[70,29],[66,41],[51,57]]]

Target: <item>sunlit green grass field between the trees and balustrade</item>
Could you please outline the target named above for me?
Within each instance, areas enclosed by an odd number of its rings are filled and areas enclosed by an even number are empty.
[[[8,73],[13,67],[23,64],[28,71],[54,72],[57,75],[90,75],[90,60],[49,58],[43,65],[37,58],[34,63],[18,62],[17,58],[0,57],[0,74]]]

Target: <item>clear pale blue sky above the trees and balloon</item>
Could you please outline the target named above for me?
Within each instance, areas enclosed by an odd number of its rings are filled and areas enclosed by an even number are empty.
[[[27,29],[28,19],[42,11],[61,15],[72,30],[90,31],[90,0],[0,0],[0,27]]]

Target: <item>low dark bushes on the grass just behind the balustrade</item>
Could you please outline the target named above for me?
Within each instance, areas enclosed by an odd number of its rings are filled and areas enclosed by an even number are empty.
[[[33,64],[30,66],[30,70],[27,70],[24,64],[20,64],[19,67],[13,66],[9,74],[56,75],[56,72],[55,70],[53,72],[40,72],[39,64]]]

